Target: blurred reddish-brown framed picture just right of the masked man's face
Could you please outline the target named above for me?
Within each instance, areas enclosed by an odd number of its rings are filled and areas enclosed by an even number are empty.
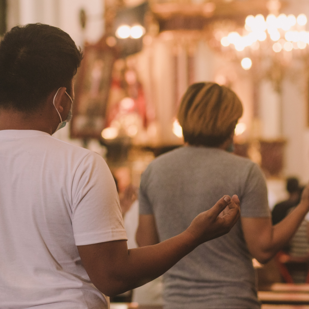
[[[105,44],[105,38],[85,46],[74,87],[72,138],[101,137],[115,59],[116,51]]]

